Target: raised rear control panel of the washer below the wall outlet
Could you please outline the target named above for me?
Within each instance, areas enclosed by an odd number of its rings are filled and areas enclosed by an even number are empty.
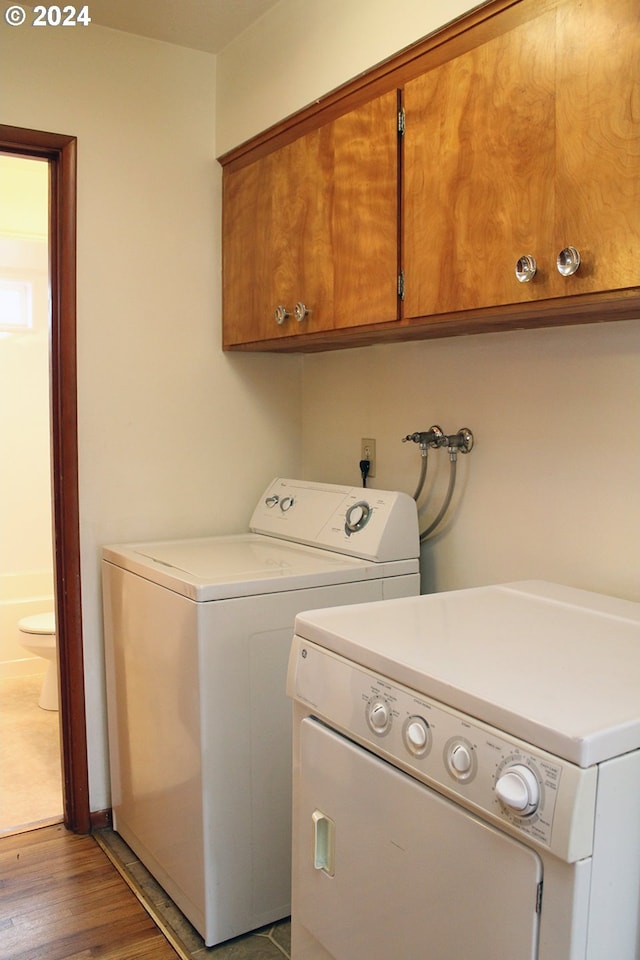
[[[273,480],[250,530],[374,562],[420,554],[418,511],[407,493],[310,480]]]

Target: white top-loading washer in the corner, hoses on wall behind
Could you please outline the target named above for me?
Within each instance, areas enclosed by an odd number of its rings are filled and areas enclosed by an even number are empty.
[[[290,913],[296,613],[419,593],[407,494],[277,479],[250,529],[103,550],[114,828],[208,946]]]

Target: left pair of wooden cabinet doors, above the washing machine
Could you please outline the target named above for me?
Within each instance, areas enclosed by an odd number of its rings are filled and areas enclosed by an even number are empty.
[[[225,171],[226,346],[395,320],[397,272],[395,90]]]

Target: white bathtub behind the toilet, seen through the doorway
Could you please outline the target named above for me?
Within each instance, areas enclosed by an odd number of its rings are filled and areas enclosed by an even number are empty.
[[[0,575],[0,679],[44,673],[46,660],[20,644],[18,621],[53,608],[52,571]]]

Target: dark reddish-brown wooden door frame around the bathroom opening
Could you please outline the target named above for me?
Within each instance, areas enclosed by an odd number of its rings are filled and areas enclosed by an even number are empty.
[[[76,138],[0,124],[0,151],[49,163],[51,464],[65,826],[89,833],[76,368]]]

